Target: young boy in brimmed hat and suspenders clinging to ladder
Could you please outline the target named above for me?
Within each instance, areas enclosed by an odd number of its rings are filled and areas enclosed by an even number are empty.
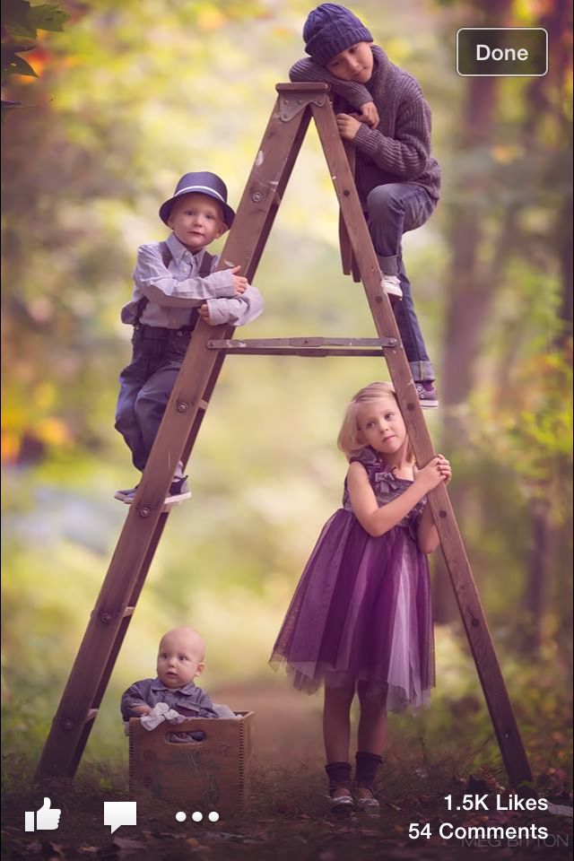
[[[259,291],[238,274],[239,266],[215,272],[219,257],[205,250],[229,230],[234,216],[221,178],[187,173],[160,207],[170,236],[137,250],[134,293],[121,311],[134,335],[132,361],[119,377],[116,428],[141,472],[199,318],[212,326],[240,326],[263,310]],[[136,490],[117,491],[115,498],[131,504]],[[190,496],[178,464],[166,504]]]

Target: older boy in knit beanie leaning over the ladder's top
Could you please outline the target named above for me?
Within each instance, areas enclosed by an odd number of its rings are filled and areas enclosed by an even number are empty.
[[[431,110],[412,75],[373,45],[349,9],[324,3],[303,27],[309,57],[291,81],[324,81],[335,92],[341,137],[356,150],[355,179],[396,324],[421,405],[439,405],[434,372],[404,272],[401,240],[427,221],[439,200],[439,162],[431,155]]]

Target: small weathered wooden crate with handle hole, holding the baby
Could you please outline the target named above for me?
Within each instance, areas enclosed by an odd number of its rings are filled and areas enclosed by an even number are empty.
[[[140,801],[164,801],[177,810],[241,813],[248,806],[253,755],[252,711],[238,718],[193,718],[146,730],[129,722],[129,787]],[[201,730],[201,742],[173,743],[167,735]]]

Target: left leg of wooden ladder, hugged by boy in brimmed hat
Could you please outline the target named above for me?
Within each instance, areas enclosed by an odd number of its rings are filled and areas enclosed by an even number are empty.
[[[326,90],[325,87],[323,89]],[[222,266],[224,260],[231,259],[241,265],[248,278],[252,278],[263,250],[259,231],[267,226],[265,222],[270,212],[273,212],[273,220],[277,190],[285,187],[291,174],[309,118],[309,109],[305,108],[290,122],[284,122],[277,100],[248,187],[222,251]],[[245,226],[242,222],[246,222]],[[92,703],[100,685],[105,687],[107,683],[105,673],[108,676],[111,673],[110,657],[113,657],[126,606],[143,573],[146,553],[150,549],[155,550],[153,535],[176,464],[187,448],[187,439],[204,392],[209,387],[213,390],[221,369],[222,354],[207,350],[206,343],[214,336],[229,338],[232,332],[230,326],[214,327],[204,321],[198,322],[53,719],[39,760],[39,777],[74,775],[89,727],[93,724],[93,720],[86,723]]]

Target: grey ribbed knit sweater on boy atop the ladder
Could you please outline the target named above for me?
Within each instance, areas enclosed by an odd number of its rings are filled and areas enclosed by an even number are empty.
[[[291,81],[325,81],[335,91],[335,113],[352,113],[374,101],[377,128],[361,124],[353,143],[355,180],[361,201],[372,188],[389,182],[415,182],[439,199],[440,166],[431,155],[431,109],[411,74],[391,63],[382,48],[371,45],[373,74],[366,84],[342,81],[309,57],[291,66]]]

